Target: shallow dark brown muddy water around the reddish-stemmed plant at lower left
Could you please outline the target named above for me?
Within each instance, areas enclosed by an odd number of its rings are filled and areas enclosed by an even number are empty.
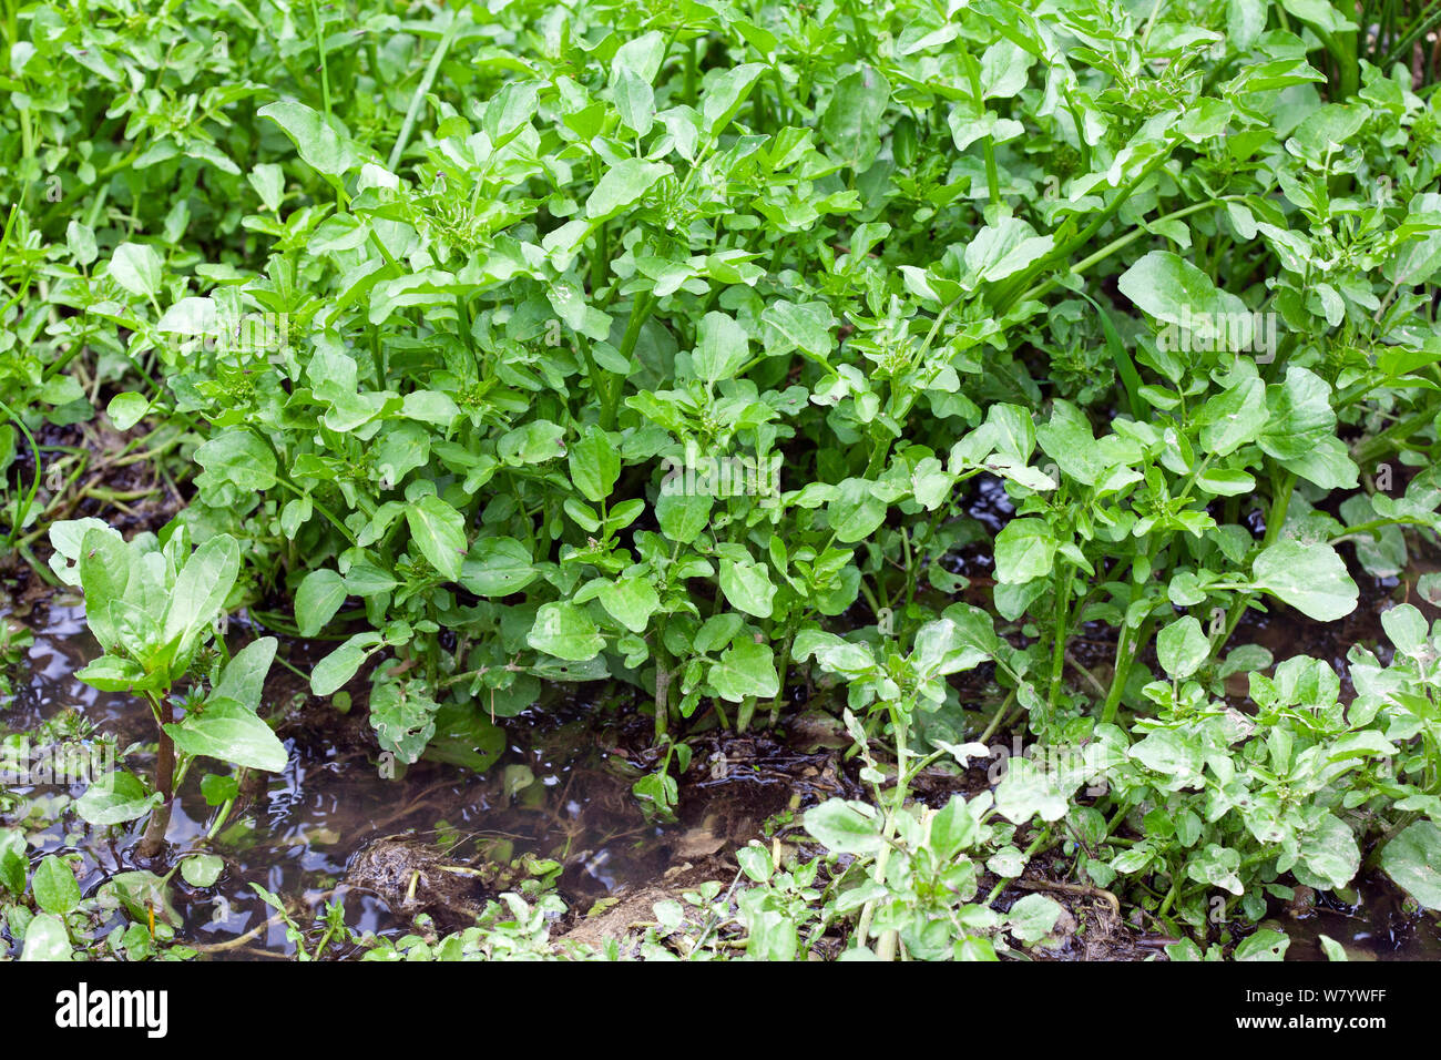
[[[120,748],[154,740],[148,708],[73,678],[98,655],[81,609],[52,606],[48,614],[37,610],[29,616],[27,624],[35,629],[35,645],[23,672],[12,675],[17,694],[0,712],[0,734],[33,730],[66,711],[79,711],[94,723],[97,736],[115,737]],[[281,655],[288,652],[301,671],[313,662],[304,645],[282,642]],[[659,880],[672,865],[745,844],[759,834],[765,818],[785,808],[795,789],[790,782],[797,760],[804,759],[755,741],[732,741],[705,766],[709,779],[689,783],[687,777],[682,785],[680,819],[654,823],[630,793],[650,763],[641,751],[621,746],[643,747],[644,740],[627,743],[620,712],[608,714],[604,705],[558,695],[545,710],[504,723],[512,746],[480,776],[440,763],[398,769],[380,761],[363,717],[307,702],[301,689],[297,676],[278,663],[272,668],[265,710],[271,717],[284,714],[277,733],[290,760],[284,773],[256,777],[255,790],[242,792],[236,811],[213,839],[206,841],[206,834],[215,809],[200,795],[199,779],[208,764],[222,773],[228,767],[197,760],[176,798],[167,864],[141,865],[134,858],[138,826],[91,829],[73,812],[43,834],[32,834],[32,847],[50,854],[78,849],[84,855],[81,885],[86,896],[120,871],[148,867],[163,875],[184,852],[219,854],[225,873],[215,887],[192,888],[179,874],[171,881],[171,897],[184,922],[180,939],[218,959],[278,958],[293,953],[294,945],[252,883],[281,896],[303,926],[323,911],[327,900],[342,898],[347,924],[393,936],[411,930],[411,914],[416,911],[431,913],[441,927],[463,926],[464,917],[447,911],[478,907],[496,891],[478,874],[467,874],[451,880],[451,893],[431,896],[437,898],[434,907],[425,904],[424,888],[419,900],[406,900],[396,893],[403,885],[388,890],[370,871],[380,861],[378,852],[389,857],[403,844],[414,844],[431,854],[444,851],[441,861],[487,871],[497,861],[532,854],[562,862],[559,893],[574,910],[584,911],[627,885]],[[153,756],[137,753],[127,763],[148,776]],[[12,792],[24,802],[53,805],[55,796],[78,798],[84,789],[33,786]],[[0,815],[0,823],[20,822]],[[32,849],[32,858],[37,857]],[[252,937],[231,945],[246,935]],[[219,943],[228,945],[209,949]]]

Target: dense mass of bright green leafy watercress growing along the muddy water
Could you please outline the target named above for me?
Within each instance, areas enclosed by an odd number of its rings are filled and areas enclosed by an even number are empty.
[[[814,900],[814,867],[742,864],[759,955],[847,919],[882,955],[1035,942],[1053,903],[990,901],[1049,849],[1202,943],[1366,851],[1441,907],[1438,630],[1388,611],[1349,707],[1329,663],[1238,642],[1255,609],[1344,619],[1353,571],[1441,529],[1441,114],[1409,26],[493,7],[7,9],[0,466],[17,554],[49,529],[84,583],[82,676],[161,721],[205,671],[164,731],[251,769],[258,686],[190,666],[216,610],[334,637],[311,689],[359,675],[402,763],[484,769],[543,682],[625,682],[661,813],[692,725],[836,688],[873,805],[810,811],[856,858]],[[193,460],[154,541],[50,529],[65,483],[20,474],[102,392],[135,451]],[[176,616],[187,560],[235,570]],[[1082,633],[1108,666],[1068,661]],[[1007,721],[1040,751],[994,793],[908,800]]]

